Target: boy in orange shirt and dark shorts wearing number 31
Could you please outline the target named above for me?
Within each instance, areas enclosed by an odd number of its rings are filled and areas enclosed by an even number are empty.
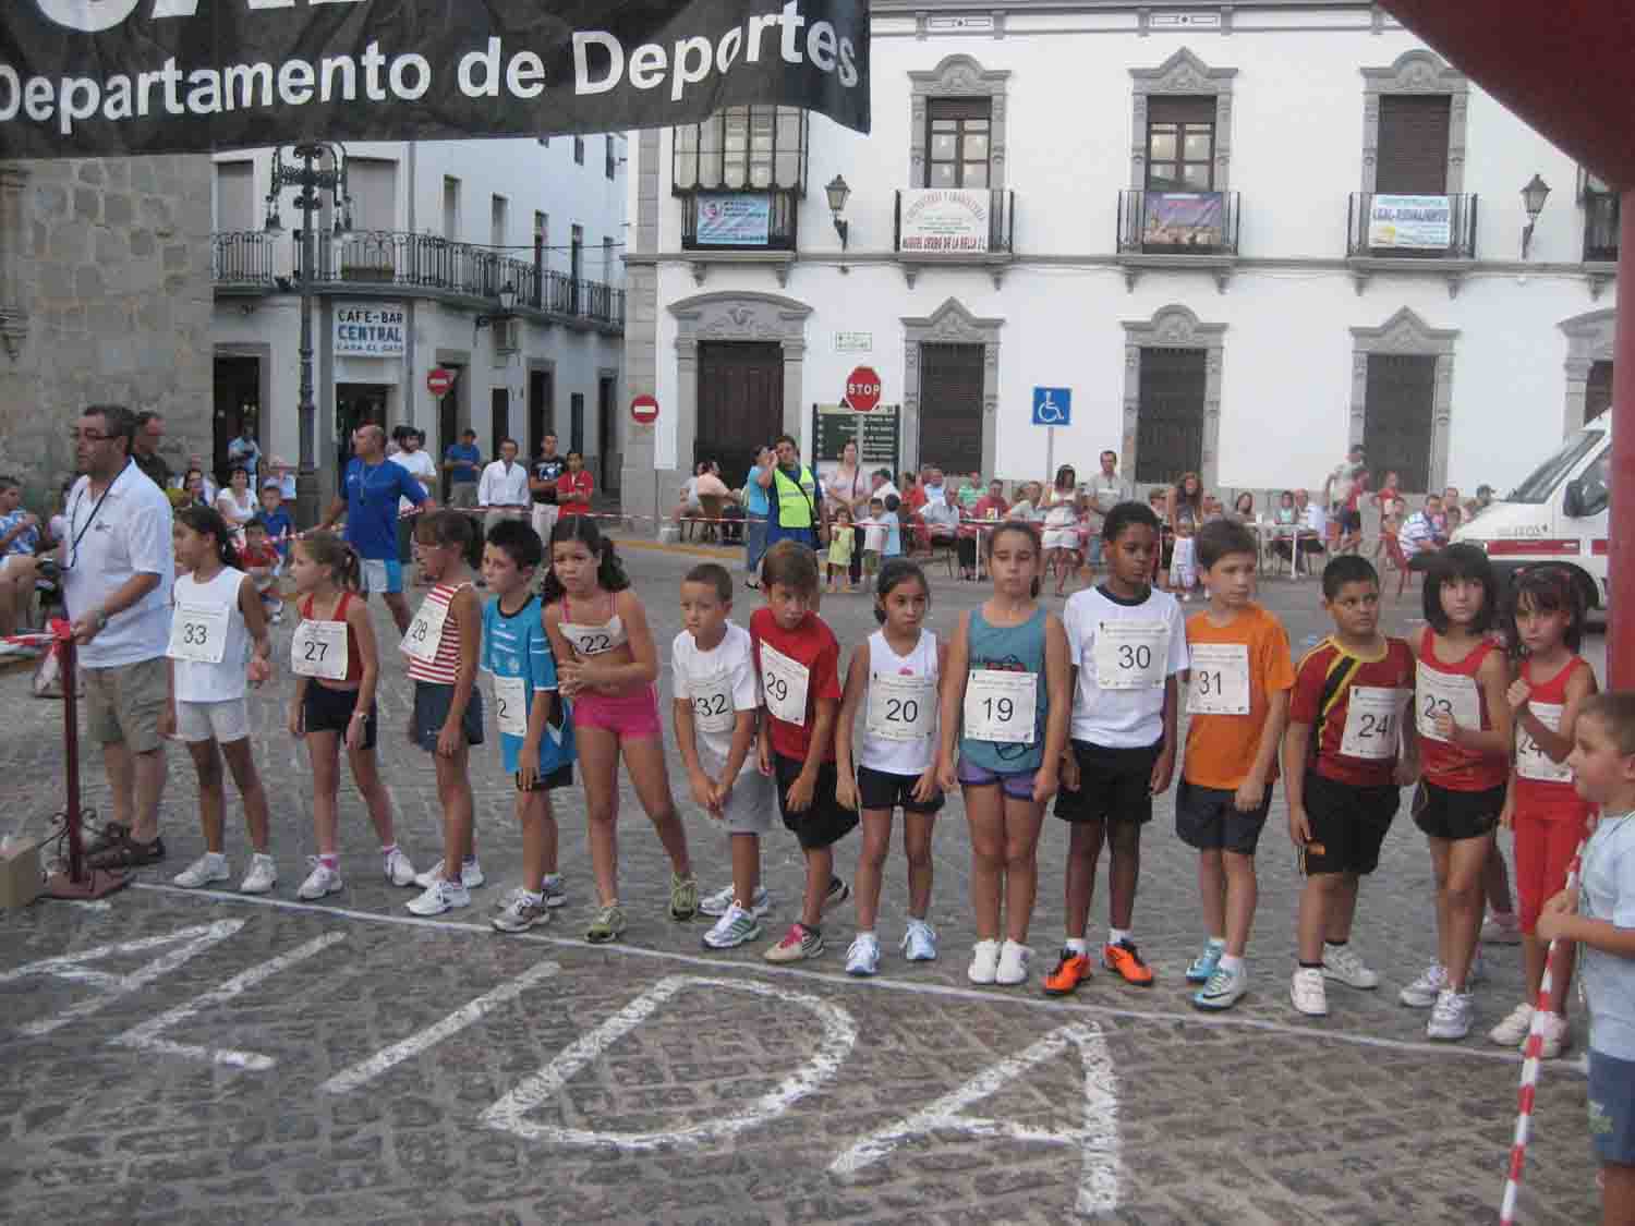
[[[1295,667],[1282,623],[1254,603],[1254,533],[1230,520],[1198,530],[1210,605],[1187,621],[1187,754],[1176,834],[1198,848],[1208,942],[1187,968],[1198,1009],[1231,1009],[1249,987],[1243,955],[1254,922],[1254,848],[1272,806],[1277,749]]]

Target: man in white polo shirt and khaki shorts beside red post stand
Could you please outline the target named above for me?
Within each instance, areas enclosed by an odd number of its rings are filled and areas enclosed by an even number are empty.
[[[136,417],[93,404],[74,430],[82,476],[69,492],[59,549],[62,597],[80,644],[85,723],[103,749],[113,819],[90,847],[96,868],[165,858],[159,798],[165,742],[159,716],[170,690],[170,500],[131,459]]]

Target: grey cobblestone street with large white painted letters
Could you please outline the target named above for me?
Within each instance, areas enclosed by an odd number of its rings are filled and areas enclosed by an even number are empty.
[[[695,561],[629,553],[662,654],[679,628],[675,584]],[[1297,654],[1326,628],[1313,588],[1265,592]],[[979,595],[934,577],[934,626],[950,628]],[[754,593],[742,597],[741,621],[754,606]],[[1414,603],[1393,613],[1398,629]],[[822,611],[844,644],[873,626],[860,597],[829,597]],[[378,605],[376,616],[384,626]],[[288,634],[286,624],[280,641]],[[942,960],[911,969],[894,951],[906,914],[896,860],[880,920],[883,974],[853,981],[840,971],[849,907],[826,925],[829,953],[798,969],[767,968],[759,948],[705,953],[701,924],[664,915],[667,863],[628,788],[626,940],[579,940],[594,891],[577,790],[556,793],[569,906],[522,938],[489,932],[481,912],[515,881],[520,850],[494,744],[474,755],[490,884],[473,911],[445,917],[453,922],[407,915],[410,894],[379,878],[348,788],[348,886],[327,906],[294,902],[312,842],[304,750],[283,732],[288,693],[284,677],[253,701],[281,875],[271,899],[168,888],[201,850],[191,770],[175,752],[162,870],[106,906],[41,902],[0,917],[0,1218],[1496,1219],[1519,1063],[1483,1031],[1519,999],[1521,960],[1488,951],[1472,1040],[1424,1041],[1424,1013],[1395,1000],[1434,948],[1429,865],[1406,821],[1359,917],[1357,945],[1385,984],[1334,987],[1321,1022],[1287,1004],[1297,878],[1280,804],[1262,842],[1252,989],[1230,1015],[1202,1017],[1184,994],[1202,932],[1194,857],[1174,837],[1169,798],[1148,829],[1136,906],[1154,987],[1097,974],[1071,1002],[1037,986],[973,989],[956,798],[935,840]],[[401,678],[384,687],[386,729],[401,727],[407,698]],[[0,703],[11,713],[0,731],[3,822],[43,829],[62,804],[60,705],[29,700],[26,673],[0,677]],[[399,734],[381,744],[401,842],[423,865],[438,845],[430,763]],[[88,803],[105,808],[96,763],[83,775]],[[229,850],[242,871],[232,808]],[[703,884],[724,883],[724,839],[682,808]],[[1059,933],[1063,845],[1059,822],[1046,819],[1035,969],[1048,969]],[[855,848],[849,839],[839,850],[847,876]],[[770,937],[796,914],[803,870],[782,830],[764,860]],[[69,955],[83,961],[41,966]],[[1525,1221],[1592,1218],[1583,1116],[1576,1059],[1550,1066]]]

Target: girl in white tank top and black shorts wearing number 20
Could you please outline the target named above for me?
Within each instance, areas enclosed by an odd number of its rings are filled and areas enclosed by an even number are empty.
[[[937,708],[947,644],[924,629],[930,587],[924,572],[893,559],[880,572],[875,616],[881,629],[852,652],[835,729],[837,798],[863,811],[863,850],[857,861],[857,940],[847,951],[849,974],[875,974],[880,942],[880,878],[891,848],[891,816],[903,809],[903,845],[909,860],[909,925],[903,951],[909,961],[937,956],[930,907],[930,835],[942,788],[937,783]],[[855,773],[852,726],[863,713]]]

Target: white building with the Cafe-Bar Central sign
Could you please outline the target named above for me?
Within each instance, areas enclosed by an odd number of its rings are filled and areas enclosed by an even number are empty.
[[[294,190],[268,201],[273,159],[214,157],[216,468],[245,422],[265,456],[299,463],[302,217]],[[363,422],[414,425],[435,454],[471,428],[484,459],[507,436],[533,456],[554,432],[616,487],[625,137],[352,144],[345,168],[350,229],[335,234],[329,193],[314,214],[324,497]],[[455,376],[443,397],[437,368]]]

